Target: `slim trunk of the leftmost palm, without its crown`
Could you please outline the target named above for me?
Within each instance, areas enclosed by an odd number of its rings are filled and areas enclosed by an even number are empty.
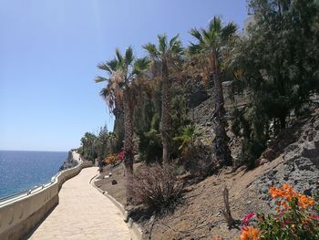
[[[124,108],[124,165],[126,171],[126,194],[127,203],[132,203],[133,200],[133,123],[132,110],[129,107],[129,93],[124,92],[123,108]]]

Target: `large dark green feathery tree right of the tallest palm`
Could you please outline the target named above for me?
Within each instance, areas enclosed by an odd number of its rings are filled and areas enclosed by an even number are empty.
[[[235,112],[235,128],[255,158],[268,139],[305,113],[318,90],[319,11],[314,0],[251,0],[249,6],[254,21],[231,61],[237,79],[252,91],[251,104]]]

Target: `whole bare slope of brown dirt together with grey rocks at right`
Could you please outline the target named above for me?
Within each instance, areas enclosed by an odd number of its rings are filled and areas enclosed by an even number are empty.
[[[271,149],[265,151],[272,152],[272,157],[267,160],[267,154],[263,154],[262,165],[254,170],[247,171],[242,167],[232,172],[231,168],[224,169],[201,183],[187,186],[180,205],[173,213],[140,221],[144,227],[144,238],[212,239],[222,236],[233,239],[238,236],[239,229],[228,229],[221,215],[225,186],[230,193],[232,216],[238,220],[251,212],[270,212],[273,209],[274,203],[268,193],[273,184],[290,183],[297,191],[313,195],[319,190],[319,110],[296,126],[287,130],[283,139],[274,141],[276,143],[271,145]],[[111,178],[97,184],[120,203],[125,203],[123,172],[118,167],[112,173],[117,185],[111,185]]]

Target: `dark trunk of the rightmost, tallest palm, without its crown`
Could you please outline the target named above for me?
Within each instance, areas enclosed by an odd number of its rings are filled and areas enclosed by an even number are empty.
[[[220,166],[232,165],[232,152],[228,147],[229,138],[226,133],[227,122],[224,118],[224,99],[221,85],[221,70],[216,55],[213,56],[213,81],[214,81],[214,99],[215,108],[213,113],[213,130],[215,131],[216,137],[212,142],[213,151]]]

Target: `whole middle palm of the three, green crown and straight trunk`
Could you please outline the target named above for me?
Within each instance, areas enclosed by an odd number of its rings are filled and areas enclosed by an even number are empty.
[[[161,74],[161,120],[160,120],[160,135],[163,144],[163,165],[166,166],[170,162],[170,131],[171,131],[171,106],[170,106],[170,87],[171,87],[171,72],[174,67],[180,62],[183,48],[180,42],[179,35],[172,37],[170,42],[168,37],[164,35],[158,36],[158,47],[154,44],[146,44],[144,49],[149,53],[149,57],[153,63],[160,65]]]

